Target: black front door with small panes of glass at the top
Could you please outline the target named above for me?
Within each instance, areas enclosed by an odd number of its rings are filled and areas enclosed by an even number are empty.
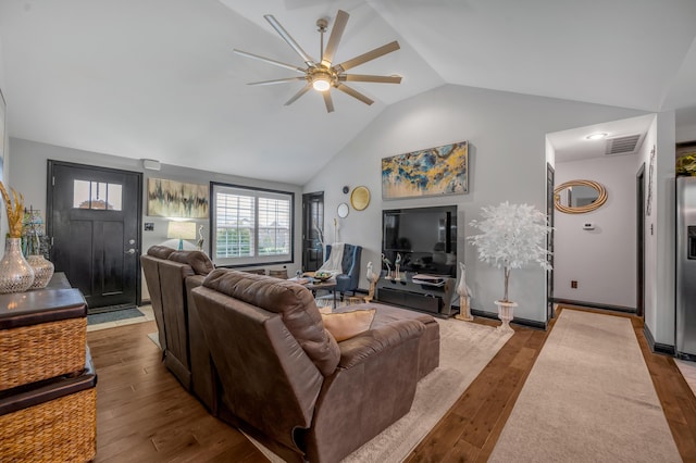
[[[142,174],[48,162],[51,261],[85,296],[89,312],[139,297]]]

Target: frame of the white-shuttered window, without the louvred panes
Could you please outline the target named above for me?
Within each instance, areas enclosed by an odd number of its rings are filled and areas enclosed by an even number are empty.
[[[248,193],[254,197],[254,254],[245,258],[217,258],[217,193],[219,192]],[[259,198],[285,199],[289,201],[289,253],[274,255],[259,255]],[[254,267],[273,264],[287,264],[295,262],[295,193],[293,191],[276,190],[270,188],[250,187],[247,185],[226,184],[220,182],[210,183],[210,256],[215,266],[237,268],[237,267]]]

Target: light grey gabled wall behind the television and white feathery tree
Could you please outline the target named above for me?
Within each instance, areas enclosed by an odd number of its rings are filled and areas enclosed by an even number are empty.
[[[539,210],[546,204],[546,134],[599,122],[644,114],[639,111],[447,85],[387,108],[311,182],[304,192],[324,191],[327,236],[338,203],[348,201],[341,187],[364,185],[372,192],[370,207],[350,211],[339,220],[339,240],[361,245],[361,286],[366,263],[381,253],[382,210],[430,204],[459,207],[458,259],[467,265],[473,290],[472,306],[495,312],[502,297],[502,271],[477,261],[475,249],[464,241],[469,226],[483,205],[509,200]],[[469,140],[468,195],[442,198],[382,200],[381,159],[453,141]],[[515,316],[546,321],[545,273],[540,267],[515,270],[510,297],[519,306]]]

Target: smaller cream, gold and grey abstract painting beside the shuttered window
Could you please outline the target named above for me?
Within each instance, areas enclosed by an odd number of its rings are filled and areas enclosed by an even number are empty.
[[[148,178],[148,215],[208,218],[208,185]]]

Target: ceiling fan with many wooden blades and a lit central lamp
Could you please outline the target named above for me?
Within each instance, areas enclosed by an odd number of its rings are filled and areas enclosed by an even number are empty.
[[[316,21],[316,26],[319,27],[319,32],[321,33],[321,61],[316,62],[302,50],[302,48],[295,41],[293,37],[285,30],[285,28],[276,21],[275,17],[271,14],[266,14],[263,17],[273,26],[273,28],[283,37],[283,40],[289,45],[293,50],[297,54],[300,55],[304,65],[307,67],[296,66],[294,64],[283,63],[281,61],[272,60],[270,58],[260,57],[258,54],[248,53],[246,51],[235,49],[234,52],[240,54],[246,58],[251,58],[253,60],[259,60],[264,63],[273,64],[276,66],[285,67],[290,71],[295,71],[297,73],[302,74],[297,77],[287,77],[279,78],[274,80],[263,80],[263,82],[254,82],[249,85],[274,85],[274,84],[287,84],[297,80],[304,80],[304,87],[302,87],[297,93],[293,96],[285,105],[293,104],[298,98],[302,95],[307,93],[310,89],[314,89],[320,91],[324,97],[324,103],[326,104],[326,111],[334,111],[334,102],[331,98],[331,88],[335,88],[337,90],[343,91],[344,93],[350,95],[353,98],[362,101],[365,104],[372,104],[370,98],[365,97],[355,88],[347,86],[346,82],[368,82],[368,83],[377,83],[377,84],[400,84],[400,76],[375,76],[375,75],[364,75],[364,74],[346,74],[346,71],[359,66],[361,64],[366,63],[368,61],[372,61],[376,58],[383,57],[387,53],[396,51],[399,49],[399,42],[396,40],[384,45],[382,47],[377,47],[374,50],[368,51],[359,57],[352,58],[348,61],[344,61],[340,64],[333,64],[334,54],[336,53],[336,49],[338,48],[338,42],[340,41],[340,37],[344,34],[344,29],[346,28],[346,24],[348,23],[348,17],[350,15],[343,10],[338,10],[336,14],[336,21],[334,22],[334,26],[331,30],[331,35],[328,37],[328,42],[326,43],[326,48],[324,49],[324,33],[326,32],[326,27],[328,26],[328,21],[325,18],[319,18]]]

